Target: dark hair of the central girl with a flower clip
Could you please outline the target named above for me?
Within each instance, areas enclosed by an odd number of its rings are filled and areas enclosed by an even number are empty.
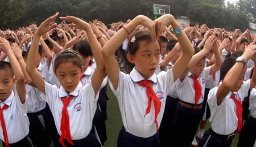
[[[130,40],[133,37],[135,37],[135,41],[131,42]],[[134,55],[136,51],[139,49],[139,44],[141,43],[141,41],[152,41],[152,36],[148,29],[139,29],[138,31],[134,31],[131,34],[127,45],[127,54]]]

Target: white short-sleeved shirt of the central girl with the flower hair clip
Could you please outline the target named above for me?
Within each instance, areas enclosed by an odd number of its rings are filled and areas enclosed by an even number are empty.
[[[156,133],[154,102],[151,103],[150,113],[145,117],[148,98],[146,88],[141,87],[138,82],[145,80],[135,68],[130,75],[119,72],[118,88],[115,90],[111,81],[110,88],[117,97],[121,111],[123,126],[126,131],[138,137],[150,137]],[[167,94],[174,86],[174,75],[172,69],[152,75],[147,80],[153,82],[152,89],[161,102],[160,113],[157,121],[160,126]],[[153,100],[152,100],[153,101]]]

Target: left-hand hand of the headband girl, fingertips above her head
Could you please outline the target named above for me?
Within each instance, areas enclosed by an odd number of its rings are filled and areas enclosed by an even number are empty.
[[[39,34],[39,36],[42,36],[44,33],[49,32],[52,28],[56,27],[57,24],[51,24],[53,20],[57,18],[59,15],[59,12],[56,12],[55,15],[49,17],[48,19],[44,20],[43,23],[40,24],[39,28],[36,30],[36,33]]]

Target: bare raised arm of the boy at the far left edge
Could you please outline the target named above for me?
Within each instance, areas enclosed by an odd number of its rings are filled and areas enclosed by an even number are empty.
[[[13,70],[15,79],[16,79],[16,91],[19,95],[20,102],[26,102],[26,88],[25,88],[25,79],[22,73],[22,69],[19,66],[19,62],[16,59],[13,51],[11,50],[11,46],[9,41],[5,40],[4,38],[0,37],[0,46],[3,52],[6,53],[7,57],[9,58],[11,68]]]

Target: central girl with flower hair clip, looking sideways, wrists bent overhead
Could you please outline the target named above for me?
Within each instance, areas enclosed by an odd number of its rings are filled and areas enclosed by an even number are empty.
[[[181,57],[171,70],[155,75],[158,67],[160,46],[156,37],[165,25],[175,29],[182,49]],[[127,59],[135,67],[130,75],[119,71],[115,50],[137,25],[148,29],[135,31],[127,46]],[[106,71],[119,103],[123,127],[119,133],[117,146],[159,146],[158,128],[162,120],[167,94],[177,77],[183,72],[194,50],[187,36],[175,18],[163,15],[152,21],[139,15],[120,29],[102,49]]]

